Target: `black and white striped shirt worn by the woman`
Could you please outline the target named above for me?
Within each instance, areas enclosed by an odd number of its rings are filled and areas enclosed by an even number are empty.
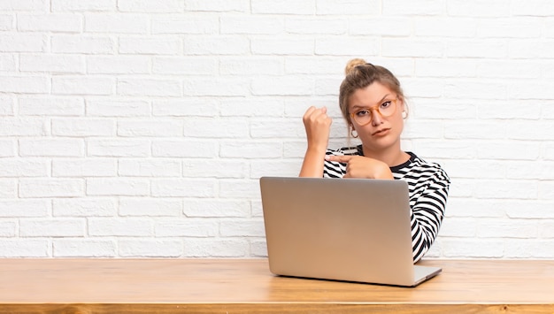
[[[413,263],[419,261],[435,241],[444,218],[444,209],[450,187],[450,178],[440,165],[427,163],[412,152],[402,165],[390,167],[395,180],[408,183],[412,221]],[[327,155],[364,156],[362,146],[327,149]],[[342,178],[346,164],[325,161],[324,178]]]

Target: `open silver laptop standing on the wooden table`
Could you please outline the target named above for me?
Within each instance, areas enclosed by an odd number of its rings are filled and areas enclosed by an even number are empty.
[[[262,177],[260,189],[274,274],[415,287],[441,272],[413,264],[402,180]]]

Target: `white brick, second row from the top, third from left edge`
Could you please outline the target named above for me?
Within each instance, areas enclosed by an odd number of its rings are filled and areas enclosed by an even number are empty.
[[[146,34],[150,19],[146,14],[85,14],[85,32]]]

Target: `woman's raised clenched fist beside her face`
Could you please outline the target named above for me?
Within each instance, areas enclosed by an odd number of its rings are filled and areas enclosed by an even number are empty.
[[[327,108],[308,108],[302,118],[306,136],[308,139],[308,149],[327,149],[329,142],[329,133],[331,132],[332,120],[327,116]]]

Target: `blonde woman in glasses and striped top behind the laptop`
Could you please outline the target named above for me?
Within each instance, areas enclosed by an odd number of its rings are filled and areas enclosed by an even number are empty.
[[[327,109],[304,114],[308,147],[301,177],[405,180],[410,189],[413,262],[435,241],[444,217],[450,178],[400,147],[408,108],[400,82],[386,68],[352,59],[345,69],[339,105],[357,147],[327,149],[331,119]]]

